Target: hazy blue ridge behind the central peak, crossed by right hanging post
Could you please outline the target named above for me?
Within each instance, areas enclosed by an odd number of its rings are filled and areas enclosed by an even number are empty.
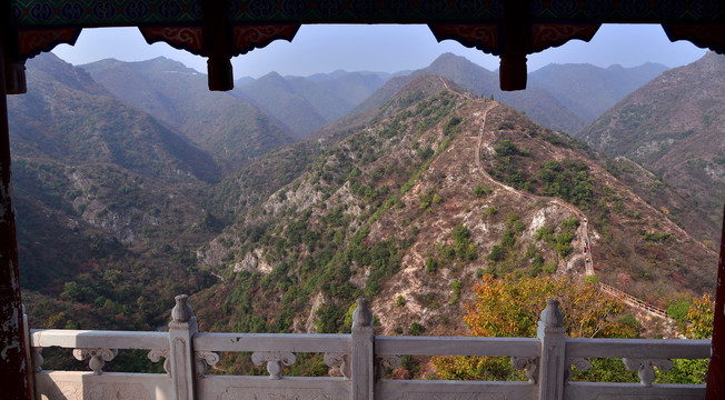
[[[445,53],[424,69],[389,80],[359,104],[356,111],[381,104],[415,77],[434,74],[450,79],[479,96],[493,96],[496,100],[526,112],[534,121],[547,128],[573,133],[616,100],[656,77],[663,68],[657,64],[634,69],[603,69],[588,64],[549,66],[529,73],[526,90],[505,92],[499,89],[498,73],[464,57]],[[617,83],[613,84],[613,81]],[[600,87],[607,89],[598,90]]]

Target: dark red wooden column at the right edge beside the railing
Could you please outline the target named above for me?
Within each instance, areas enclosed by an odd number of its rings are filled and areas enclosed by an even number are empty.
[[[725,207],[723,233],[719,242],[717,287],[715,289],[715,318],[713,320],[713,356],[707,368],[707,400],[725,399]]]

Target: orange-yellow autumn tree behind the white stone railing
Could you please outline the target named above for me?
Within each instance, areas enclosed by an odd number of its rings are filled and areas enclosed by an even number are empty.
[[[625,314],[620,300],[600,293],[593,284],[578,286],[570,279],[530,278],[507,274],[501,279],[485,276],[477,284],[476,302],[467,304],[464,317],[475,337],[536,337],[538,317],[546,299],[560,302],[566,333],[573,338],[636,338],[638,322]],[[522,380],[508,358],[435,357],[434,366],[441,379]],[[623,368],[616,376],[597,378],[612,381],[633,379]],[[605,373],[607,373],[605,371]]]

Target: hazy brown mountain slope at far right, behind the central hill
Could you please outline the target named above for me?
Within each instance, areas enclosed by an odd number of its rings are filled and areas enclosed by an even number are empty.
[[[663,198],[657,184],[640,196],[665,207],[713,247],[719,241],[725,201],[724,93],[725,57],[708,52],[652,80],[577,133],[612,157],[636,161],[673,188],[673,199]]]

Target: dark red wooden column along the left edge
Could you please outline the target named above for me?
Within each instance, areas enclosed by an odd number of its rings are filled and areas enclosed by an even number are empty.
[[[4,19],[4,18],[2,18]],[[3,399],[30,399],[20,298],[16,212],[10,182],[10,131],[6,90],[7,26],[0,30],[0,379]]]

